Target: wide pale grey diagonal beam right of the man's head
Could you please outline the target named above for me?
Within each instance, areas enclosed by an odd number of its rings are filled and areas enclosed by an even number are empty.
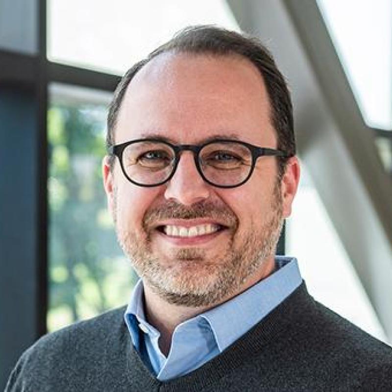
[[[293,94],[298,152],[392,340],[392,181],[314,0],[227,1]],[[317,229],[317,228],[310,228]]]

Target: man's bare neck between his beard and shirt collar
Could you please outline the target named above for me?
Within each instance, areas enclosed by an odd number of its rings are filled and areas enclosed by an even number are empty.
[[[274,270],[274,258],[263,263],[262,268],[257,270],[246,282],[234,293],[231,293],[219,302],[210,304],[208,306],[189,307],[183,305],[175,305],[167,302],[165,299],[156,294],[148,283],[144,281],[144,299],[145,299],[145,314],[147,321],[153,325],[159,332],[159,348],[165,356],[168,356],[174,329],[182,322],[192,319],[193,317],[206,312],[231,298],[243,293],[251,286],[265,279]]]

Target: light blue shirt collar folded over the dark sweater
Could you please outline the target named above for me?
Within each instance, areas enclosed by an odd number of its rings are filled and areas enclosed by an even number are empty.
[[[220,351],[266,317],[301,284],[302,278],[295,258],[275,256],[275,264],[277,270],[270,276],[244,293],[194,318],[209,324]],[[136,349],[140,347],[139,328],[151,337],[160,335],[146,320],[143,295],[143,282],[139,280],[124,315]]]

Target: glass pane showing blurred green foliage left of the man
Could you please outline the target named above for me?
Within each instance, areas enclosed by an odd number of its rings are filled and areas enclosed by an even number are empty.
[[[107,98],[50,88],[49,331],[125,304],[135,281],[102,187]]]

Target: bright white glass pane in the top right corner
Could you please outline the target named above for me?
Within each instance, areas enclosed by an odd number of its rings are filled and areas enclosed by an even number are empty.
[[[318,4],[365,122],[392,129],[392,1]]]

